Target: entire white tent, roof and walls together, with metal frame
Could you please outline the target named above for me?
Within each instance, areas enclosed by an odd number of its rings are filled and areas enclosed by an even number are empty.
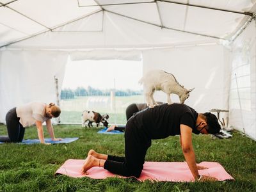
[[[255,12],[255,0],[0,0],[0,122],[56,99],[69,56],[142,60],[144,73],[195,87],[186,104],[228,109],[229,125],[256,139]]]

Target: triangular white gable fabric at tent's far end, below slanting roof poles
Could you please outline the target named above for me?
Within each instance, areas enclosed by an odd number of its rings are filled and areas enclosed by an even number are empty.
[[[91,17],[95,17],[92,15]],[[81,28],[83,20],[73,27]],[[68,26],[68,25],[67,25]],[[215,38],[198,36],[170,29],[161,29],[136,20],[125,19],[113,13],[104,13],[103,31],[52,32],[17,42],[8,47],[28,49],[84,49],[111,47],[158,47],[163,45],[188,44],[189,42],[216,42]],[[92,29],[93,30],[93,29]],[[71,34],[70,34],[71,33]],[[172,42],[172,43],[170,43]]]

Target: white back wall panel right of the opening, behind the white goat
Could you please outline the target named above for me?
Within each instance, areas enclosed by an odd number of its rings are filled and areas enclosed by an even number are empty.
[[[143,74],[154,68],[163,69],[185,88],[195,88],[185,104],[199,113],[212,108],[228,109],[229,56],[230,51],[222,45],[143,51]],[[177,95],[171,97],[173,102],[179,102]],[[163,92],[156,92],[154,98],[166,102]]]

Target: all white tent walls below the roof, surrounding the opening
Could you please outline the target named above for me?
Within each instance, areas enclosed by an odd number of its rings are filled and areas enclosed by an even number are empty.
[[[195,87],[186,104],[199,113],[212,108],[229,109],[229,114],[223,113],[221,118],[229,120],[229,125],[239,131],[244,128],[246,134],[255,139],[255,32],[253,21],[232,44],[231,50],[212,44],[144,51],[73,51],[69,54],[72,60],[140,60],[142,56],[143,74],[153,68],[172,73],[185,88]],[[31,100],[56,102],[54,76],[59,79],[60,89],[67,58],[68,52],[62,51],[1,51],[0,122],[5,122],[8,109],[19,104]],[[163,92],[156,92],[154,97],[166,102]],[[179,102],[179,97],[172,95],[172,100]]]

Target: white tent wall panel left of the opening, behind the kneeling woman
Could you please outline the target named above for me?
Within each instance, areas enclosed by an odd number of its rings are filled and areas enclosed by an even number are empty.
[[[0,51],[0,122],[20,104],[56,102],[54,76],[60,89],[67,56],[54,51]]]

